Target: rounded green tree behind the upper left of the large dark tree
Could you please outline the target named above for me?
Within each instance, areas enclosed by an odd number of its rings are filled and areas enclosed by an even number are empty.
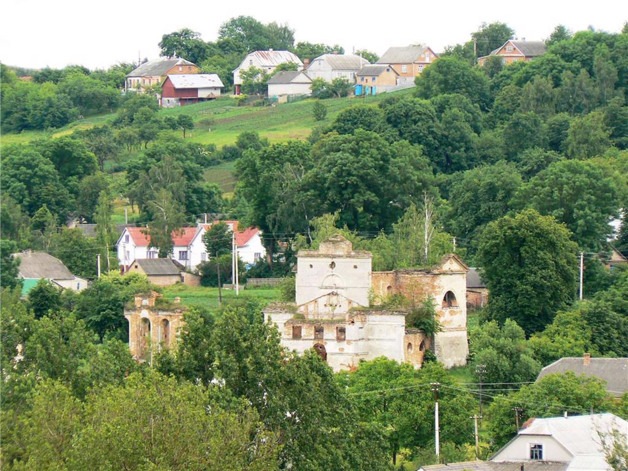
[[[512,208],[511,199],[519,187],[521,175],[516,166],[503,160],[465,171],[453,181],[448,228],[461,239],[462,246],[475,252],[485,225]]]

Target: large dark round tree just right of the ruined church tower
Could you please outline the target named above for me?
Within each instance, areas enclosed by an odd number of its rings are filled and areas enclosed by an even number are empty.
[[[551,216],[525,210],[490,222],[477,261],[490,291],[489,316],[511,318],[527,334],[543,330],[573,300],[577,245]]]

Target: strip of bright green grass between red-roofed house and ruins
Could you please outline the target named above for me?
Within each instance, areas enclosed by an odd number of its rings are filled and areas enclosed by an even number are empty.
[[[205,286],[186,286],[177,283],[163,288],[163,296],[168,300],[174,300],[176,296],[181,298],[181,304],[189,307],[217,308],[218,288],[208,288]],[[251,290],[241,290],[236,296],[235,290],[222,289],[222,300],[224,303],[234,302],[239,299],[256,298],[264,304],[281,300],[278,289],[275,288],[253,288]]]

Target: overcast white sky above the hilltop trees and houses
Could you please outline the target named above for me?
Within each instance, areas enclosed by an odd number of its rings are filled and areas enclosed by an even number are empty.
[[[220,8],[220,11],[216,8]],[[183,27],[215,40],[220,23],[241,14],[288,23],[296,41],[338,43],[381,55],[388,46],[427,43],[436,52],[462,43],[482,21],[504,21],[528,40],[549,36],[558,23],[573,31],[592,24],[617,32],[628,19],[625,0],[391,1],[267,0],[162,1],[3,0],[0,61],[40,68],[82,64],[109,67],[138,57],[158,58],[161,35]]]

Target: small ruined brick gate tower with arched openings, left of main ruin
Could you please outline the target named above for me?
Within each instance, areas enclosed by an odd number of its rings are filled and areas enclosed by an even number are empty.
[[[133,304],[124,308],[133,359],[153,364],[154,354],[173,347],[185,310],[179,298],[163,301],[162,295],[154,291],[135,295]]]

